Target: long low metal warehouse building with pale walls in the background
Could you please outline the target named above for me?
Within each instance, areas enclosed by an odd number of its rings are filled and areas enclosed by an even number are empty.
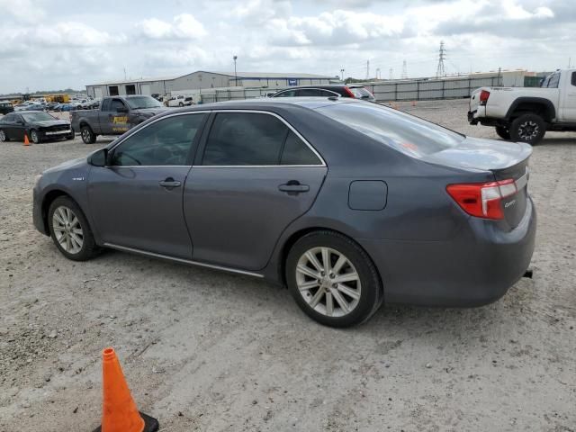
[[[86,85],[88,96],[101,98],[119,94],[170,94],[173,91],[198,90],[208,88],[234,87],[269,87],[284,88],[289,85],[322,85],[329,84],[331,76],[312,74],[289,74],[267,72],[209,72],[198,70],[183,76],[166,76],[159,78],[139,78],[110,81]]]

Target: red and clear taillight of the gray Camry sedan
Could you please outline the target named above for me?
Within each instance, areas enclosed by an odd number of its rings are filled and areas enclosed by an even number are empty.
[[[500,202],[518,192],[511,178],[491,183],[448,184],[446,192],[472,216],[484,219],[504,219]]]

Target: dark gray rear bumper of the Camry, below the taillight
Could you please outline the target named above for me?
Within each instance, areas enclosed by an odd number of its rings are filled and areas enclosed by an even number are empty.
[[[384,301],[471,307],[495,302],[526,273],[536,238],[536,210],[505,232],[494,221],[470,218],[449,242],[359,242],[383,279]]]

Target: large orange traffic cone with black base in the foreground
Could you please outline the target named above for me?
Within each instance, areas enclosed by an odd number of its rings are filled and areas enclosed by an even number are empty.
[[[158,420],[142,414],[130,395],[122,368],[113,348],[102,353],[102,426],[94,432],[155,432]]]

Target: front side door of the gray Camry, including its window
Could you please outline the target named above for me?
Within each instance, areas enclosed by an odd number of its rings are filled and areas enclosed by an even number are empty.
[[[92,167],[90,213],[104,243],[192,257],[182,199],[204,118],[184,113],[152,122],[112,148],[109,166]]]

